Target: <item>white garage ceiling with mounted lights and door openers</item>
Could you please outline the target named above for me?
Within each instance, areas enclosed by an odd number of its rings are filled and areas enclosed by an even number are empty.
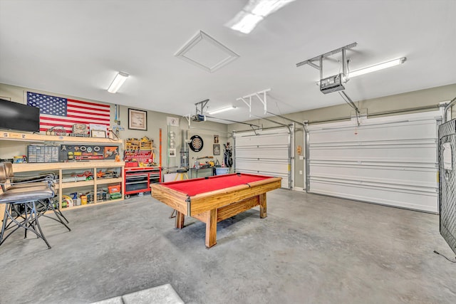
[[[209,110],[238,107],[214,116],[243,121],[249,111],[237,98],[267,88],[276,114],[344,103],[320,92],[318,70],[296,63],[353,42],[351,70],[407,57],[348,81],[353,101],[456,83],[455,0],[296,0],[248,35],[224,26],[245,4],[0,0],[0,83],[175,115],[209,99]],[[239,58],[214,73],[176,58],[200,30]],[[338,72],[339,58],[323,62],[323,76]],[[119,70],[130,78],[110,94]],[[255,98],[252,113],[264,116]]]

